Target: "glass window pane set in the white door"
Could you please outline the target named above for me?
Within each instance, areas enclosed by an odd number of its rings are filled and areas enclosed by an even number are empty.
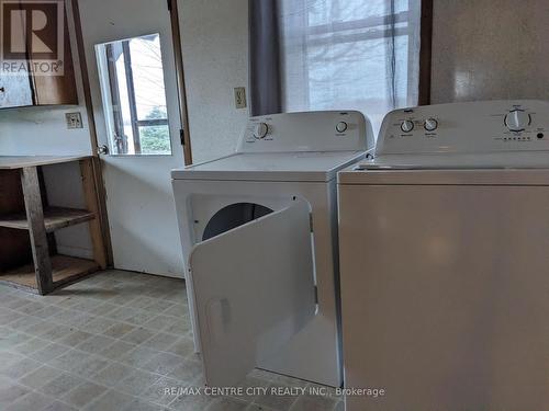
[[[97,46],[111,152],[170,155],[160,36]]]

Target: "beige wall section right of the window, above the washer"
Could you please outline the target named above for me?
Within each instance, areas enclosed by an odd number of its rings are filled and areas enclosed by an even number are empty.
[[[549,99],[549,1],[434,0],[432,102]]]

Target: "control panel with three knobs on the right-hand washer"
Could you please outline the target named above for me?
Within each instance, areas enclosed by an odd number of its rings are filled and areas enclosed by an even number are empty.
[[[395,110],[383,119],[376,155],[549,150],[549,103],[485,101]]]

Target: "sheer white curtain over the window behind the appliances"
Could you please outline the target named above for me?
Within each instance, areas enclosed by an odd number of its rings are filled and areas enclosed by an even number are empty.
[[[421,0],[279,0],[284,112],[417,104]]]

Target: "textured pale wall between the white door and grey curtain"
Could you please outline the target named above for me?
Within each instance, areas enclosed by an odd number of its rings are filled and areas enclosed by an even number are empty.
[[[248,83],[248,1],[179,0],[193,161],[235,150],[248,118],[235,87]]]

